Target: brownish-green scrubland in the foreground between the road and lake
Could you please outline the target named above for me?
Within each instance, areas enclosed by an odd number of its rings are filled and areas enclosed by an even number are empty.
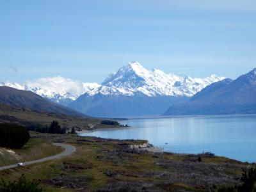
[[[0,172],[7,180],[22,174],[36,179],[45,191],[230,191],[243,184],[243,169],[253,167],[208,153],[152,153],[130,147],[147,142],[143,140],[31,136],[35,141],[65,142],[77,148],[63,159]]]

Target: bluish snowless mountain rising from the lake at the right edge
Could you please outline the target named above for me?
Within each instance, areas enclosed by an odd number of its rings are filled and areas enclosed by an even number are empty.
[[[188,102],[171,106],[164,115],[256,113],[256,68],[236,80],[225,79],[196,93]]]

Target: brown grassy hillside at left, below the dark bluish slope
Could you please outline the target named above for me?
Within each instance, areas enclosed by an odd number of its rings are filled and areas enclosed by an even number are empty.
[[[82,129],[98,129],[105,127],[116,127],[101,124],[100,119],[90,117],[75,117],[46,111],[33,111],[28,108],[19,108],[0,103],[0,123],[13,123],[21,125],[50,125],[53,120],[59,122],[61,127],[71,129],[76,127]]]

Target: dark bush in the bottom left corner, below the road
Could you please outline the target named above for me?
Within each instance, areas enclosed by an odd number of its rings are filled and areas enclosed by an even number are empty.
[[[0,180],[0,192],[42,192],[43,189],[38,187],[39,184],[36,180],[29,181],[24,175],[21,175],[14,181]]]

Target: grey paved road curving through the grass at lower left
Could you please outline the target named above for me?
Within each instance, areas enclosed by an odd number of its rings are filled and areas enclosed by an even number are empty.
[[[52,143],[52,144],[65,148],[65,151],[63,151],[60,154],[57,154],[55,156],[50,156],[50,157],[45,157],[45,158],[42,158],[42,159],[37,159],[37,160],[34,160],[34,161],[24,162],[23,166],[26,166],[26,165],[29,165],[29,164],[34,164],[34,163],[43,163],[44,161],[49,161],[49,160],[52,160],[52,159],[61,159],[61,157],[69,156],[70,154],[72,154],[73,152],[76,151],[76,148],[71,146],[71,145],[66,145],[66,144],[63,144],[63,143]],[[18,167],[17,164],[2,166],[2,167],[0,167],[0,171],[8,170],[8,169],[11,169],[11,168],[16,168],[16,167]]]

